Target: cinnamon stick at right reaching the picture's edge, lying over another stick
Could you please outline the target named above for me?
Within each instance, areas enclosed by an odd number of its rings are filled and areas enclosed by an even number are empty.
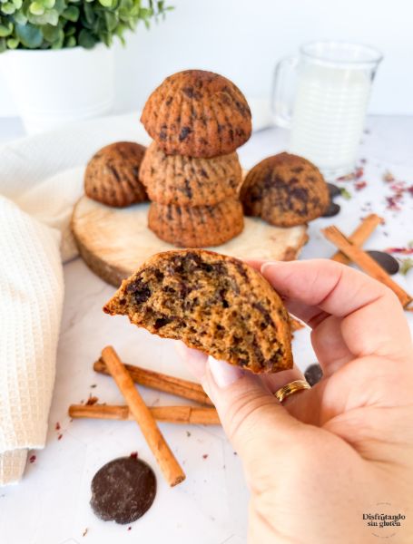
[[[388,276],[388,273],[378,265],[365,251],[352,244],[348,238],[339,230],[331,226],[322,229],[325,238],[332,242],[336,248],[358,265],[369,276],[379,280],[382,284],[389,287],[397,296],[403,307],[406,307],[413,300],[395,281]]]

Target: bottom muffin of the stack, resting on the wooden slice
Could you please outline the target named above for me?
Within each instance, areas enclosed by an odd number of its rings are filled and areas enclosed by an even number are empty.
[[[220,246],[241,233],[244,217],[239,199],[215,206],[174,206],[152,202],[148,227],[165,242],[181,248]]]

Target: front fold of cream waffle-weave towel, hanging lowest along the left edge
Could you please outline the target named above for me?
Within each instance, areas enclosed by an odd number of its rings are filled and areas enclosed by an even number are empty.
[[[44,446],[64,285],[60,232],[0,197],[0,484]]]

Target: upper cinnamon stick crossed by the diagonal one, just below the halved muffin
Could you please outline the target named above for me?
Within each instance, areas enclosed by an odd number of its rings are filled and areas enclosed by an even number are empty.
[[[153,370],[134,366],[133,364],[123,364],[129,374],[131,374],[133,382],[136,382],[136,384],[145,385],[146,387],[151,387],[158,391],[176,394],[184,399],[213,406],[211,399],[203,391],[200,384],[190,382],[189,380],[182,380],[181,378],[175,378],[168,374],[154,372]],[[93,370],[100,374],[110,374],[102,357],[93,364]]]

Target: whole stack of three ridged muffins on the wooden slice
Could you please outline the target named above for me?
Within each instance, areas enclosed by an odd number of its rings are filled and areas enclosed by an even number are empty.
[[[141,121],[153,138],[140,170],[152,200],[148,225],[185,248],[218,246],[240,234],[241,165],[251,112],[221,75],[187,70],[152,92]]]

